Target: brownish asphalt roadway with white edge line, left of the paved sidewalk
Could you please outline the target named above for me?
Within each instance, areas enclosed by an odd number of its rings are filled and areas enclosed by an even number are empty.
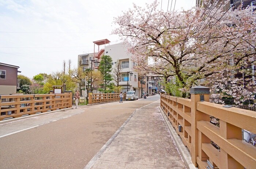
[[[83,169],[133,111],[158,99],[155,95],[123,103],[80,106],[0,123],[0,168]]]

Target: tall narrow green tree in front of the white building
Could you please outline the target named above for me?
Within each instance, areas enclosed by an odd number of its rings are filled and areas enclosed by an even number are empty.
[[[101,58],[101,62],[99,63],[99,71],[103,77],[103,83],[100,84],[101,88],[98,89],[103,93],[111,93],[114,89],[114,83],[111,82],[113,77],[111,75],[112,72],[112,58],[109,55],[103,55]]]

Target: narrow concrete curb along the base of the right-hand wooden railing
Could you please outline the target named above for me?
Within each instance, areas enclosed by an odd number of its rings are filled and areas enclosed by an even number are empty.
[[[165,119],[166,126],[168,127],[168,129],[173,137],[173,140],[177,146],[178,151],[181,154],[181,157],[182,157],[185,165],[187,166],[188,169],[197,169],[191,161],[191,155],[189,153],[188,148],[182,143],[180,136],[174,130],[172,124],[169,122],[169,120],[166,117],[165,113],[163,112],[162,108],[160,106],[158,108],[161,111],[163,119]]]

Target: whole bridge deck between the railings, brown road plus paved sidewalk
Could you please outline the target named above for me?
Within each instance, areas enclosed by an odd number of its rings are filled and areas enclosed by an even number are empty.
[[[157,95],[1,122],[1,168],[186,168],[158,106]]]

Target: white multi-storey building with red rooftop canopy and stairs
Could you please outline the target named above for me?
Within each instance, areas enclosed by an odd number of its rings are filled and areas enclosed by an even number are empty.
[[[132,62],[132,54],[127,51],[127,47],[125,47],[124,43],[105,46],[105,44],[109,44],[109,42],[108,39],[93,42],[98,46],[98,51],[91,54],[78,55],[78,67],[81,67],[82,70],[86,70],[87,68],[91,69],[91,67],[93,67],[92,69],[97,71],[98,67],[94,66],[91,60],[100,61],[103,55],[109,55],[113,61],[113,69],[115,65],[118,64],[117,61],[119,61],[120,79],[118,82],[119,86],[122,87],[122,92],[134,90],[137,93],[136,95],[141,96],[144,91],[147,91],[146,83],[144,82],[146,78],[142,80],[143,84],[141,84],[138,73],[133,70],[137,63]],[[100,49],[99,46],[101,45],[104,45],[104,48]],[[97,93],[97,89],[94,89],[93,92]],[[84,91],[82,91],[82,95],[85,95]]]

